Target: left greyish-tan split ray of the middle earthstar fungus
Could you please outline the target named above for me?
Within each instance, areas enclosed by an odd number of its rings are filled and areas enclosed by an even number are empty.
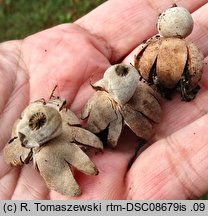
[[[108,129],[107,141],[116,146],[123,127],[123,118],[116,102],[105,91],[96,91],[82,111],[82,119],[87,120],[87,129],[100,133]]]

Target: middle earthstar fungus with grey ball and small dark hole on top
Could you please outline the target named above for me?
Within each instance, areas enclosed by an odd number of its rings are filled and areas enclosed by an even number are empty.
[[[93,88],[96,92],[82,111],[88,130],[95,134],[107,130],[107,142],[113,147],[124,124],[141,139],[150,139],[153,123],[160,121],[161,107],[153,89],[139,81],[134,67],[111,66]]]

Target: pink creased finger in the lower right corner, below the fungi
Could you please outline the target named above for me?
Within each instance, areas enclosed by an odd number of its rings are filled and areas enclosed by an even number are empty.
[[[127,175],[128,199],[196,199],[208,191],[208,115],[144,151]]]

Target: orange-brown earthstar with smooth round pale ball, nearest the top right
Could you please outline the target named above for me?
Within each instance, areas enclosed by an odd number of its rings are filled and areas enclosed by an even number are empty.
[[[160,35],[142,44],[135,67],[149,84],[155,84],[165,98],[177,89],[184,101],[194,99],[203,69],[203,54],[184,38],[193,29],[191,14],[182,7],[164,11],[158,19]]]

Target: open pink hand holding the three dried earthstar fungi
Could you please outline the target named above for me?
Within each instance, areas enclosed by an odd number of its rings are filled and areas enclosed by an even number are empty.
[[[158,14],[173,3],[193,15],[194,30],[187,40],[205,55],[201,90],[189,103],[178,94],[161,102],[162,120],[151,145],[130,170],[138,139],[128,130],[116,149],[93,155],[100,173],[76,173],[82,189],[76,199],[195,199],[208,192],[207,0],[109,0],[74,24],[0,44],[0,199],[74,199],[48,190],[32,165],[11,168],[4,162],[2,150],[14,121],[29,101],[48,99],[55,85],[56,94],[79,115],[93,93],[93,74],[132,62],[138,45],[157,33]]]

